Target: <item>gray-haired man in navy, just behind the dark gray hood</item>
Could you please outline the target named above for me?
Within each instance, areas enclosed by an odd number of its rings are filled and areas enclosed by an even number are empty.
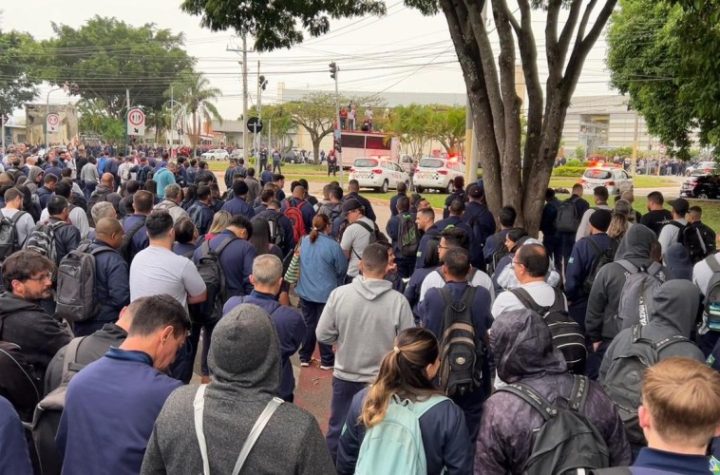
[[[279,396],[288,402],[293,401],[295,377],[290,364],[290,357],[300,348],[305,336],[305,321],[300,312],[292,307],[280,305],[277,295],[282,286],[283,265],[273,254],[262,254],[253,261],[250,282],[254,289],[250,295],[232,297],[223,308],[223,315],[243,303],[257,305],[270,314],[280,342],[280,367],[282,378]]]

